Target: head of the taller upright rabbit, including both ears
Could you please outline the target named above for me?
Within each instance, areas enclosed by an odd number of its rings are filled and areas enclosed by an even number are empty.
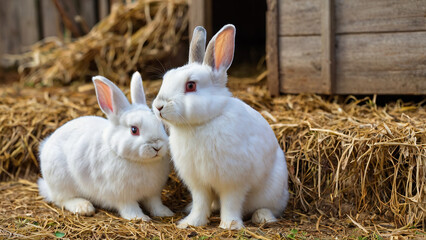
[[[155,115],[167,124],[197,125],[219,116],[231,93],[226,71],[234,57],[235,27],[225,25],[210,40],[194,29],[187,65],[168,71],[153,102]]]

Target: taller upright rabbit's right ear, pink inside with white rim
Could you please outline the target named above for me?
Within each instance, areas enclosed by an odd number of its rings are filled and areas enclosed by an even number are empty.
[[[234,58],[235,27],[232,24],[223,26],[207,45],[204,64],[216,71],[226,71]]]

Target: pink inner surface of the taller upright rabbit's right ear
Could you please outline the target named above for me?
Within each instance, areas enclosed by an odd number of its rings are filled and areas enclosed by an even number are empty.
[[[234,29],[227,28],[217,37],[214,45],[214,58],[216,70],[219,67],[231,65],[234,56]]]

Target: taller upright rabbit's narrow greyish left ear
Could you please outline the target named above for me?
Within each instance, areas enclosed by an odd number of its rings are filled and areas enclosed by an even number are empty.
[[[198,26],[192,34],[191,44],[189,45],[189,63],[203,63],[206,48],[206,29]]]

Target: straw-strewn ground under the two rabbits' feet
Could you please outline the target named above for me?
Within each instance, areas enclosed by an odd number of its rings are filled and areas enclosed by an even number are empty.
[[[97,209],[92,217],[77,216],[46,203],[38,195],[36,183],[18,180],[0,183],[0,238],[148,238],[148,239],[363,239],[371,237],[347,221],[322,220],[288,210],[276,223],[256,226],[246,221],[246,229],[227,231],[218,228],[218,214],[206,227],[177,229],[176,222],[184,216],[183,204],[166,197],[165,204],[177,213],[171,218],[154,218],[152,222],[127,221],[114,211]]]

